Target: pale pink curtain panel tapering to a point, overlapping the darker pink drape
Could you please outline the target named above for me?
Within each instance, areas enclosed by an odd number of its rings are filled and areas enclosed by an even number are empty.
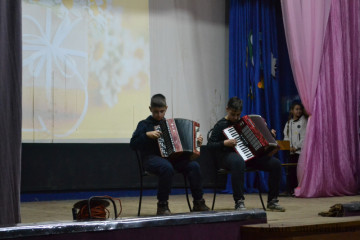
[[[318,86],[331,0],[281,0],[295,84],[309,114]]]

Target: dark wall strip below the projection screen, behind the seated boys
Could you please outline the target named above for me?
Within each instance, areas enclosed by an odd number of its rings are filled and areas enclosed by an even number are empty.
[[[215,180],[215,167],[206,146],[200,163],[204,187]],[[23,143],[21,192],[126,190],[139,188],[135,153],[129,144]],[[183,178],[174,179],[182,187]],[[145,187],[156,188],[157,178],[147,177]]]

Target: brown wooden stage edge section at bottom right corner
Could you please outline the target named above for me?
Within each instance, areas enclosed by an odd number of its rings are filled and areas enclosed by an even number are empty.
[[[240,227],[241,239],[315,240],[360,239],[360,220],[340,223],[291,226],[290,224],[256,224]]]

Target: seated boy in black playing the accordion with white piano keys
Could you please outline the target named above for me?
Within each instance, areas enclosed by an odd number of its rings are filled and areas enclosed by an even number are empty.
[[[223,134],[225,128],[236,124],[240,120],[241,111],[242,101],[237,97],[231,98],[226,107],[227,115],[215,124],[207,145],[210,149],[215,150],[219,166],[231,172],[235,210],[246,209],[244,204],[244,172],[246,164],[248,167],[269,172],[267,209],[284,212],[285,209],[278,204],[277,200],[281,180],[281,163],[279,159],[263,156],[245,163],[242,157],[234,150],[236,140],[227,139]]]

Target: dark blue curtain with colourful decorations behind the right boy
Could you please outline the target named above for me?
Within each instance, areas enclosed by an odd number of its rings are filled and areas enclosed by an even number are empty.
[[[242,115],[263,116],[269,128],[277,131],[276,138],[282,139],[289,98],[296,98],[297,91],[287,53],[280,1],[231,0],[229,16],[229,97],[241,98]],[[279,157],[283,161],[283,157]],[[254,178],[254,173],[245,176],[248,193],[256,191]],[[262,173],[261,187],[268,190],[266,173]],[[281,186],[281,190],[284,189],[285,173]],[[227,191],[231,192],[230,178]]]

